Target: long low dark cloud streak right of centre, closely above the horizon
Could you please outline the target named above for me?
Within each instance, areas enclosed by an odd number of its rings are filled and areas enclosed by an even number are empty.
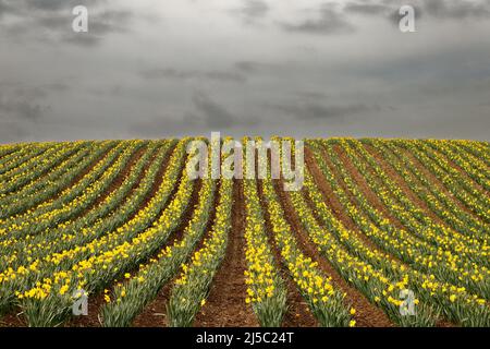
[[[271,106],[275,110],[290,115],[296,119],[329,119],[343,121],[348,117],[356,116],[363,112],[377,111],[381,107],[378,105],[369,106],[365,104],[326,106],[319,103],[304,103],[304,104],[283,104]]]

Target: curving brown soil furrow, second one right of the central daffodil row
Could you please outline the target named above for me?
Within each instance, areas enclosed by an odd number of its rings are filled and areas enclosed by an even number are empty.
[[[351,287],[335,268],[328,263],[326,258],[321,257],[318,253],[318,249],[310,241],[308,233],[304,230],[297,213],[291,203],[290,196],[283,190],[282,182],[274,182],[275,192],[281,198],[282,207],[291,227],[296,232],[296,241],[298,242],[299,248],[306,256],[318,263],[318,266],[323,273],[332,278],[334,287],[346,294],[345,304],[347,306],[354,306],[356,310],[356,314],[354,315],[356,325],[359,327],[392,327],[393,323],[379,308],[372,305],[363,293],[357,291],[354,287]]]

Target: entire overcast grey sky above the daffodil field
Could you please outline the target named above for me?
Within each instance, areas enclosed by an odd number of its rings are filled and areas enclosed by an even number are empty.
[[[0,143],[490,140],[489,62],[490,0],[0,0]]]

